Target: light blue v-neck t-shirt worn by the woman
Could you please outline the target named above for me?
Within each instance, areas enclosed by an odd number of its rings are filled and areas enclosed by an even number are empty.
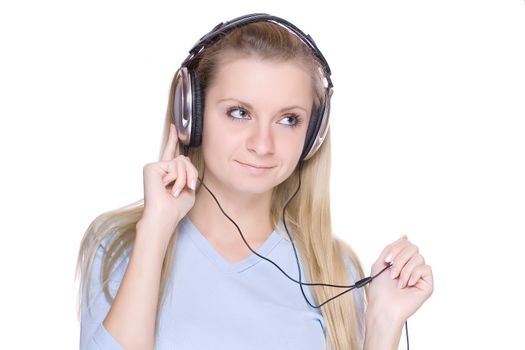
[[[105,249],[100,245],[93,262],[91,310],[88,310],[86,294],[82,296],[80,350],[123,349],[102,324],[111,307],[100,279]],[[175,249],[155,349],[326,348],[326,329],[320,310],[309,306],[299,285],[268,261],[255,254],[236,263],[226,261],[187,217],[181,222]],[[295,255],[282,225],[271,233],[257,253],[273,260],[298,280]],[[123,259],[112,275],[109,282],[112,296],[116,295],[128,261],[129,258]],[[350,282],[354,283],[359,279],[355,267],[349,260],[345,263]],[[302,264],[301,272],[305,282]],[[309,287],[303,286],[303,289],[310,303],[316,305]],[[334,295],[341,291],[334,288]],[[361,290],[351,293],[362,313]]]

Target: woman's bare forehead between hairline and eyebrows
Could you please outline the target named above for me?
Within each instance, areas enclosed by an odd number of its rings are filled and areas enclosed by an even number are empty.
[[[206,98],[310,108],[313,84],[310,72],[299,61],[237,57],[222,60]]]

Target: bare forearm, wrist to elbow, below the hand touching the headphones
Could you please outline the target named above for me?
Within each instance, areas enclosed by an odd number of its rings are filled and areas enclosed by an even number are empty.
[[[127,270],[103,325],[125,349],[153,349],[160,275],[167,242],[137,223]]]

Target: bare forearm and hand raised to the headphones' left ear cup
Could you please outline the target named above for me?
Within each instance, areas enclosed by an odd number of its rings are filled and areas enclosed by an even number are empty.
[[[178,155],[178,133],[170,125],[162,161],[146,164],[144,212],[120,289],[103,326],[126,349],[153,349],[162,264],[170,238],[195,203],[198,172]],[[170,185],[173,183],[173,185]]]

